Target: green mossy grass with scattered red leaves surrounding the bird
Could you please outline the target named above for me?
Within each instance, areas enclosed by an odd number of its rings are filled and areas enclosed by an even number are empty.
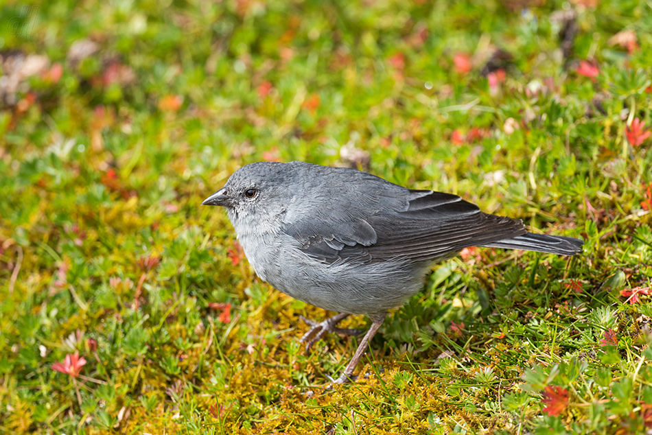
[[[649,3],[164,3],[1,6],[0,433],[649,430]],[[199,207],[264,159],[585,251],[465,250],[325,390],[356,338],[305,354],[299,316],[328,314]]]

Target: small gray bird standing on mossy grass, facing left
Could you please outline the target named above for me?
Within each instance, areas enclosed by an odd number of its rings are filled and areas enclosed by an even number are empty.
[[[433,263],[469,246],[574,255],[583,241],[528,233],[521,220],[483,213],[450,193],[412,190],[343,167],[259,162],[238,169],[202,205],[226,207],[256,274],[281,292],[331,311],[310,322],[309,348],[366,314],[371,327],[335,381],[353,371],[388,309],[423,287]]]

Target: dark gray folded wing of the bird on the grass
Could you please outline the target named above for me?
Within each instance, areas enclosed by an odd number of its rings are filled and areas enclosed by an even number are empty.
[[[337,212],[324,210],[317,219],[286,224],[284,231],[307,255],[325,263],[436,261],[467,246],[527,233],[520,220],[482,213],[449,193],[392,188],[384,194],[371,208],[350,204]]]

